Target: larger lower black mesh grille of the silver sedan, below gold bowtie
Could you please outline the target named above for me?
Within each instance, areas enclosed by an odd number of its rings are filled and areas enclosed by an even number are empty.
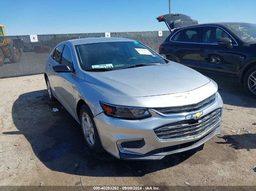
[[[221,108],[218,108],[198,119],[182,120],[165,124],[154,129],[155,135],[160,139],[185,138],[211,128],[221,118]]]

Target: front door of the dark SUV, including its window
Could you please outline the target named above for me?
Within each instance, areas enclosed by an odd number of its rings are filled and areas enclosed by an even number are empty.
[[[234,77],[236,69],[241,62],[238,59],[238,45],[231,35],[218,26],[198,27],[202,31],[201,44],[198,47],[198,64],[194,67],[203,73],[212,73]],[[221,38],[231,39],[233,48],[228,49],[226,45],[219,45]]]

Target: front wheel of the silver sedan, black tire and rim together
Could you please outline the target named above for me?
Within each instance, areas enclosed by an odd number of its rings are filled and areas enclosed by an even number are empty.
[[[85,139],[85,147],[89,148],[94,153],[104,151],[101,145],[100,137],[93,119],[93,114],[87,105],[83,105],[80,109],[79,121],[81,130]],[[89,121],[89,123],[88,123]],[[88,126],[90,126],[88,128]]]

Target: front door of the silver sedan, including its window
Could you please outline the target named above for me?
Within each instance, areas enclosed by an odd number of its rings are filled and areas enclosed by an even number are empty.
[[[73,69],[71,72],[60,72],[59,75],[59,100],[61,103],[75,116],[75,104],[74,104],[74,95],[73,95],[73,84],[76,78],[75,68],[73,64],[73,57],[71,50],[67,44],[65,44],[62,51],[62,56],[60,64],[68,65],[68,67]]]

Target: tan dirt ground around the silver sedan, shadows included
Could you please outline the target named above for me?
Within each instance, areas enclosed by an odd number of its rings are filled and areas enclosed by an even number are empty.
[[[49,102],[43,75],[0,79],[0,185],[72,186],[81,176],[84,186],[255,186],[256,99],[240,84],[216,82],[224,101],[221,135],[161,161],[121,161],[84,150],[78,123]],[[238,129],[251,133],[236,135]]]

